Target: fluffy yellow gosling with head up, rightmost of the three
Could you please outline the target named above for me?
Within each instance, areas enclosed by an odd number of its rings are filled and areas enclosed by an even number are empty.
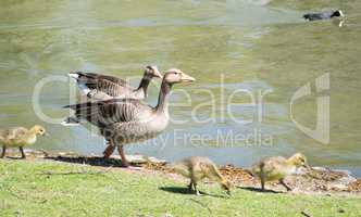
[[[284,186],[287,191],[291,191],[284,178],[291,174],[295,174],[297,168],[306,167],[310,168],[307,164],[307,158],[303,154],[297,153],[289,158],[282,156],[267,157],[259,163],[254,164],[250,171],[252,175],[258,176],[261,179],[261,188],[264,191],[264,183],[266,181],[278,180],[278,182]]]

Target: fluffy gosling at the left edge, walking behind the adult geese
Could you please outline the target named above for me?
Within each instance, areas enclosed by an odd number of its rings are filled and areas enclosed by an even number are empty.
[[[2,145],[0,158],[5,156],[7,148],[18,148],[22,158],[26,158],[23,146],[35,143],[37,135],[45,136],[45,128],[35,125],[30,129],[24,127],[0,129],[0,144]]]

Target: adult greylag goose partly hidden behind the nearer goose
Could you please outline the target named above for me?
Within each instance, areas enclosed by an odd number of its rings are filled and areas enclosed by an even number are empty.
[[[142,79],[137,89],[130,87],[125,80],[94,73],[70,73],[69,76],[74,78],[83,93],[94,100],[109,100],[112,98],[132,98],[145,99],[150,80],[153,77],[162,78],[162,74],[157,66],[147,66]]]

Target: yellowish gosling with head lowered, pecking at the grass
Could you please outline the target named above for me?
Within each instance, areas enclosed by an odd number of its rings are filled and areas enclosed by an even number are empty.
[[[208,157],[187,157],[175,163],[172,168],[175,173],[190,179],[188,189],[189,191],[194,191],[197,195],[200,195],[197,189],[197,182],[204,178],[219,182],[222,189],[224,189],[227,194],[231,194],[232,183],[221,175],[215,164]]]

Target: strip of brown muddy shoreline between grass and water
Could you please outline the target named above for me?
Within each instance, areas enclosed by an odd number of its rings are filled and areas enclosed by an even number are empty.
[[[100,169],[123,169],[130,173],[158,174],[171,179],[186,181],[180,176],[174,174],[169,167],[169,163],[154,157],[144,155],[127,155],[128,161],[135,168],[124,169],[121,167],[119,156],[109,159],[98,155],[79,155],[74,152],[49,153],[46,151],[25,150],[26,161],[54,161],[71,164],[91,165]],[[14,150],[8,153],[8,159],[17,159],[18,153]],[[260,182],[258,178],[251,176],[247,169],[234,165],[220,166],[223,176],[231,180],[237,188],[259,191]],[[361,196],[361,178],[352,176],[347,170],[328,169],[313,167],[312,173],[299,173],[286,178],[288,186],[292,188],[289,193],[302,194],[340,194]],[[208,183],[212,183],[211,181]],[[285,192],[286,190],[277,182],[266,184],[270,192]]]

